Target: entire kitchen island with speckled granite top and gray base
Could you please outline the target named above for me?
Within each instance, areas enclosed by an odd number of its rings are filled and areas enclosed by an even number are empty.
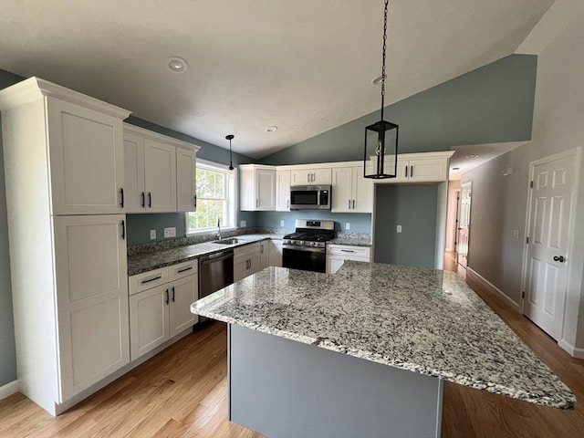
[[[574,395],[454,273],[270,267],[193,303],[229,323],[230,419],[268,436],[439,436],[442,382]]]

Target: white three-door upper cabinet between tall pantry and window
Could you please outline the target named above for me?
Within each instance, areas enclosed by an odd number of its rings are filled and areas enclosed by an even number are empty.
[[[198,146],[124,125],[127,213],[194,211]]]

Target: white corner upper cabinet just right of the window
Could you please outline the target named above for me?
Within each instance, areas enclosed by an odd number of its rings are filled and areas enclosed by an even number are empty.
[[[276,168],[260,164],[239,166],[239,208],[246,212],[276,209]]]

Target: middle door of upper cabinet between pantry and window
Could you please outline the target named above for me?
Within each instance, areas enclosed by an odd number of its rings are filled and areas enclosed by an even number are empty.
[[[176,212],[176,148],[144,140],[146,212]]]

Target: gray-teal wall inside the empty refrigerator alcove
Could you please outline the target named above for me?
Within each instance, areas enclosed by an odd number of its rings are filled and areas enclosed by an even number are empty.
[[[437,185],[377,184],[373,261],[433,268],[437,199]]]

